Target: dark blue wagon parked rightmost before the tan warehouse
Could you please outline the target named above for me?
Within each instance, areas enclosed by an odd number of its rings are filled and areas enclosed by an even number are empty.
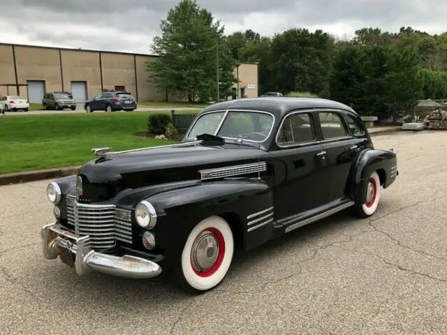
[[[137,102],[132,94],[126,91],[103,91],[85,102],[84,109],[88,112],[94,110],[105,110],[105,112],[115,112],[115,110],[135,110]]]

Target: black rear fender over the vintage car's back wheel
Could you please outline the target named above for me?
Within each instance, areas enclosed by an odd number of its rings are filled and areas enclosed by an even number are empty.
[[[383,149],[365,149],[360,152],[353,168],[351,192],[365,189],[369,176],[376,171],[379,174],[381,186],[387,188],[393,184],[397,176],[397,156],[395,152]],[[357,194],[359,202],[366,201],[366,193]]]

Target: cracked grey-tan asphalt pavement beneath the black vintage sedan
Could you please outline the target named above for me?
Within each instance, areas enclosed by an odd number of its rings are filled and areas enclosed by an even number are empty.
[[[237,253],[200,296],[169,274],[78,277],[44,260],[49,181],[1,186],[0,333],[447,334],[447,132],[373,142],[395,148],[400,175],[372,218],[348,209]]]

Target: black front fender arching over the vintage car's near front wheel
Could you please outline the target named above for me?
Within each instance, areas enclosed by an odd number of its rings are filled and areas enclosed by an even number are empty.
[[[179,257],[191,230],[209,216],[229,221],[235,239],[245,249],[270,239],[272,225],[247,238],[247,217],[272,207],[270,186],[258,179],[210,181],[147,197],[157,212],[156,243],[166,251],[166,259]],[[250,235],[250,236],[251,236]]]

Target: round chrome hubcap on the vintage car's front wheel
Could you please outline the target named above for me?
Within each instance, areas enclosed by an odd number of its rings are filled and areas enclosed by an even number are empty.
[[[206,271],[214,265],[219,255],[219,243],[212,232],[198,235],[192,248],[192,265],[197,271]]]

